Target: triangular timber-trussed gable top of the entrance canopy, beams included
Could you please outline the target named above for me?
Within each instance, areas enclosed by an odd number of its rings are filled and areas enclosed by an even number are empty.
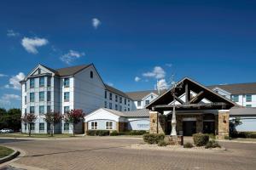
[[[226,99],[200,83],[185,77],[177,82],[175,88],[167,90],[146,108],[159,112],[172,111],[174,100],[178,102],[178,104],[175,103],[176,111],[229,110],[236,105],[230,99]]]

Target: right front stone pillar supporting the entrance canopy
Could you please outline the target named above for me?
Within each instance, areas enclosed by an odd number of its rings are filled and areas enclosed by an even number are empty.
[[[230,135],[230,110],[218,111],[218,139]]]

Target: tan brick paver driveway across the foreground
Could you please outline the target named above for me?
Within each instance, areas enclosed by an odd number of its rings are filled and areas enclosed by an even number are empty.
[[[20,148],[16,165],[44,169],[255,169],[256,144],[223,143],[228,151],[194,152],[132,150],[125,146],[142,139],[7,140],[0,144]]]

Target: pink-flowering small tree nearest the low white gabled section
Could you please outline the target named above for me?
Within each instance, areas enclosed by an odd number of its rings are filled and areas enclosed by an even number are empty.
[[[84,120],[84,112],[83,110],[74,109],[71,111],[67,111],[67,113],[64,115],[64,121],[67,123],[73,124],[73,136],[75,135],[74,129],[75,125],[79,122],[82,122]]]

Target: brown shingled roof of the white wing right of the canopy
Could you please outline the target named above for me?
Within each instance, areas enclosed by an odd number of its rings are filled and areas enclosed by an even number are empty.
[[[256,82],[207,86],[210,89],[216,87],[222,88],[230,94],[256,94]]]

